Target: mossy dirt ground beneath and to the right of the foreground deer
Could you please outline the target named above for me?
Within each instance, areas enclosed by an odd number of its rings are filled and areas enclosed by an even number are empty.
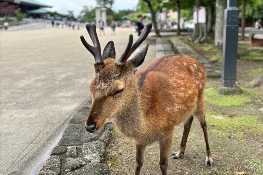
[[[249,86],[261,71],[262,61],[238,60],[237,85],[243,90],[240,95],[217,94],[214,87],[221,83],[221,79],[207,79],[206,120],[215,166],[204,166],[203,131],[198,120],[194,119],[185,155],[177,160],[169,159],[168,174],[263,174],[263,85]],[[182,133],[183,124],[176,126],[171,153],[179,148]],[[146,148],[141,174],[161,174],[158,162],[159,145],[156,142]],[[111,174],[133,174],[135,170],[134,144],[117,131],[108,147],[108,164]]]

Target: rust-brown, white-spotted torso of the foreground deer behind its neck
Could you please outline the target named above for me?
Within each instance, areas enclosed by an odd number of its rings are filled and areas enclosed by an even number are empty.
[[[206,81],[203,65],[184,54],[157,58],[136,76],[145,99],[145,117],[164,128],[173,128],[193,114]]]

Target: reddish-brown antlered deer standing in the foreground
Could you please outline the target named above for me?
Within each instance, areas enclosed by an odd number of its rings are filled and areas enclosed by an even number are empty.
[[[172,159],[178,159],[185,153],[191,124],[196,117],[205,138],[205,166],[213,167],[204,113],[205,68],[188,55],[174,54],[156,58],[137,71],[144,62],[149,44],[133,58],[129,57],[146,39],[151,28],[152,23],[146,23],[134,43],[130,34],[127,48],[117,61],[114,42],[109,41],[101,55],[96,25],[86,25],[94,46],[83,36],[80,38],[95,58],[95,77],[89,84],[92,103],[85,129],[89,133],[97,132],[112,121],[118,132],[132,138],[136,148],[135,175],[140,174],[146,146],[159,142],[159,166],[166,175],[174,127],[184,124],[181,145],[172,154]]]

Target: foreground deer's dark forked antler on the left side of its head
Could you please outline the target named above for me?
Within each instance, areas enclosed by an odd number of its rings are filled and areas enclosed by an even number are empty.
[[[82,44],[87,48],[87,50],[90,51],[90,53],[95,58],[95,65],[98,64],[104,64],[104,60],[101,56],[101,50],[100,50],[100,42],[96,33],[96,25],[95,24],[86,24],[86,29],[91,37],[91,41],[93,42],[94,46],[89,45],[84,37],[81,35],[80,39]]]

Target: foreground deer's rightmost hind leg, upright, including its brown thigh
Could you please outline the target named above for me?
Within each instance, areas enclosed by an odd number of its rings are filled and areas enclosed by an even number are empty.
[[[205,113],[204,113],[203,94],[201,94],[198,98],[197,109],[194,112],[194,116],[198,118],[200,125],[203,129],[204,137],[205,137],[206,152],[207,152],[207,156],[206,156],[206,160],[205,160],[205,166],[207,167],[208,163],[210,163],[211,167],[213,167],[214,162],[212,159],[212,152],[210,151],[209,142],[208,142],[207,124],[206,124]]]

